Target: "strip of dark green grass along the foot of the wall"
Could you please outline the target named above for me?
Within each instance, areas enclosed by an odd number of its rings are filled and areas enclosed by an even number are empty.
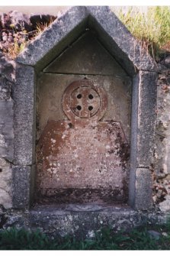
[[[149,235],[149,228],[115,233],[105,227],[95,238],[79,240],[71,236],[52,239],[38,230],[28,232],[23,228],[10,228],[0,232],[0,250],[170,250],[170,225],[154,227],[160,233],[159,239]]]

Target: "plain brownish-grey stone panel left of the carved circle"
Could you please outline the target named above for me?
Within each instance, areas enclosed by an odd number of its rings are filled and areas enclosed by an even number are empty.
[[[79,75],[42,73],[37,79],[37,140],[48,120],[64,120],[66,115],[61,99],[67,86],[75,80],[84,79]]]

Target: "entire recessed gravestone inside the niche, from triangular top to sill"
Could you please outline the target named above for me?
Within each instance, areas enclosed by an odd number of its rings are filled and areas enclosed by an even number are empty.
[[[38,202],[127,202],[130,83],[91,31],[43,70],[37,89]]]

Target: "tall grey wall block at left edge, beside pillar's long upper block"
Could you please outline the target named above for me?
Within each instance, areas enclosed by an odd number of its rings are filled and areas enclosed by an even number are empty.
[[[0,157],[14,159],[13,101],[0,100]]]

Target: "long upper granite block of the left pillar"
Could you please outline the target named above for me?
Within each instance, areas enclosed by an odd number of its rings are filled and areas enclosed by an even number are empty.
[[[29,165],[34,162],[34,69],[18,65],[14,99],[14,164]]]

